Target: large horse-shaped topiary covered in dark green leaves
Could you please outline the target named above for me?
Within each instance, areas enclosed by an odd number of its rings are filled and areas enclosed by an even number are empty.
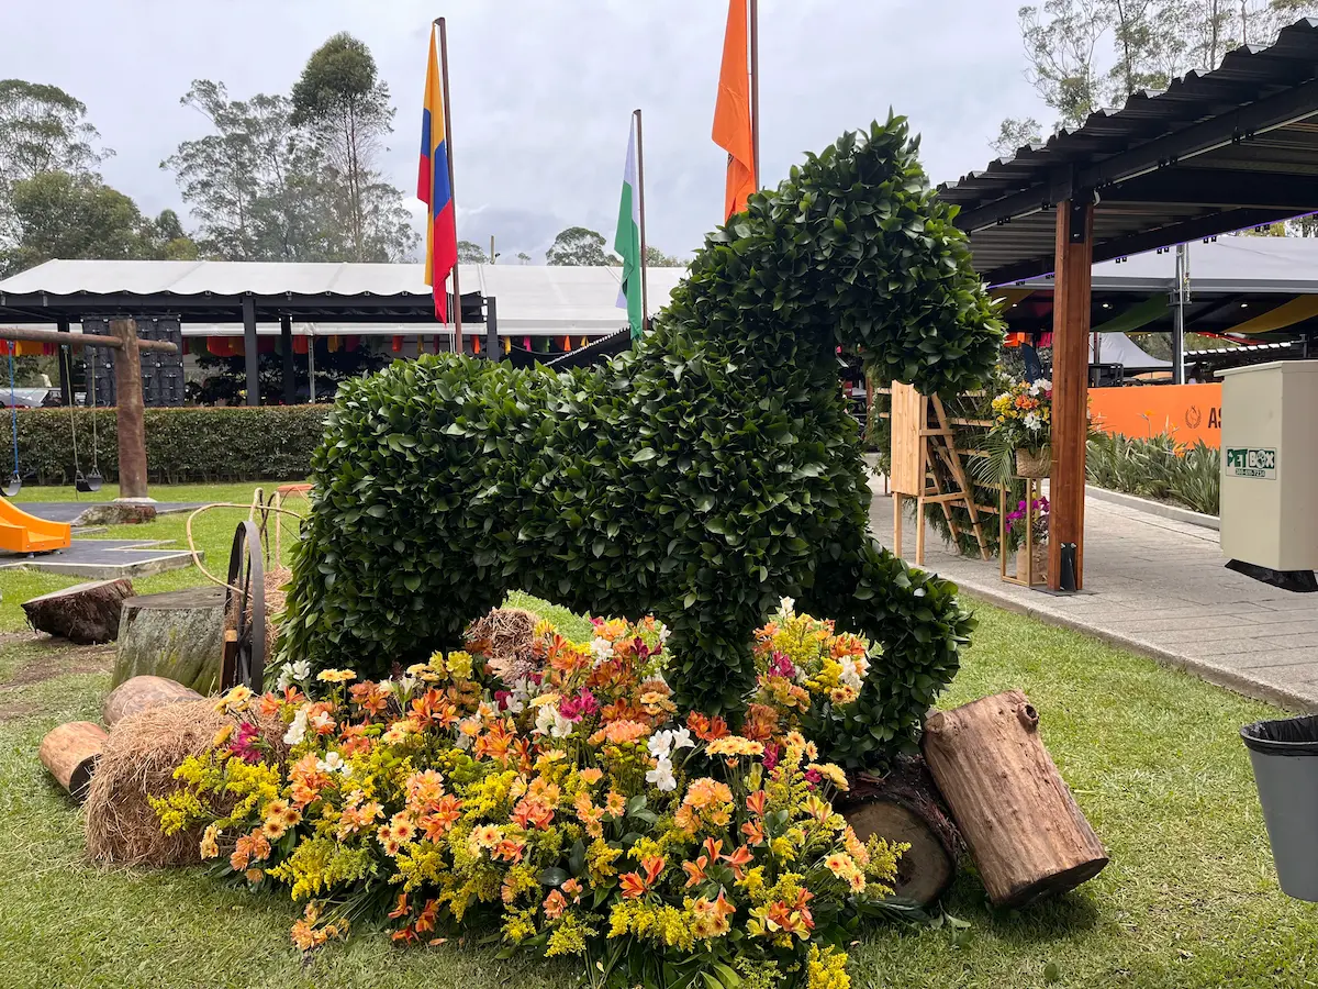
[[[1000,324],[905,120],[845,135],[705,241],[604,368],[442,355],[344,384],[312,460],[286,657],[386,675],[525,589],[672,630],[685,704],[733,711],[780,597],[882,644],[832,756],[875,764],[957,670],[956,587],[867,534],[837,348],[879,381],[965,390]]]

